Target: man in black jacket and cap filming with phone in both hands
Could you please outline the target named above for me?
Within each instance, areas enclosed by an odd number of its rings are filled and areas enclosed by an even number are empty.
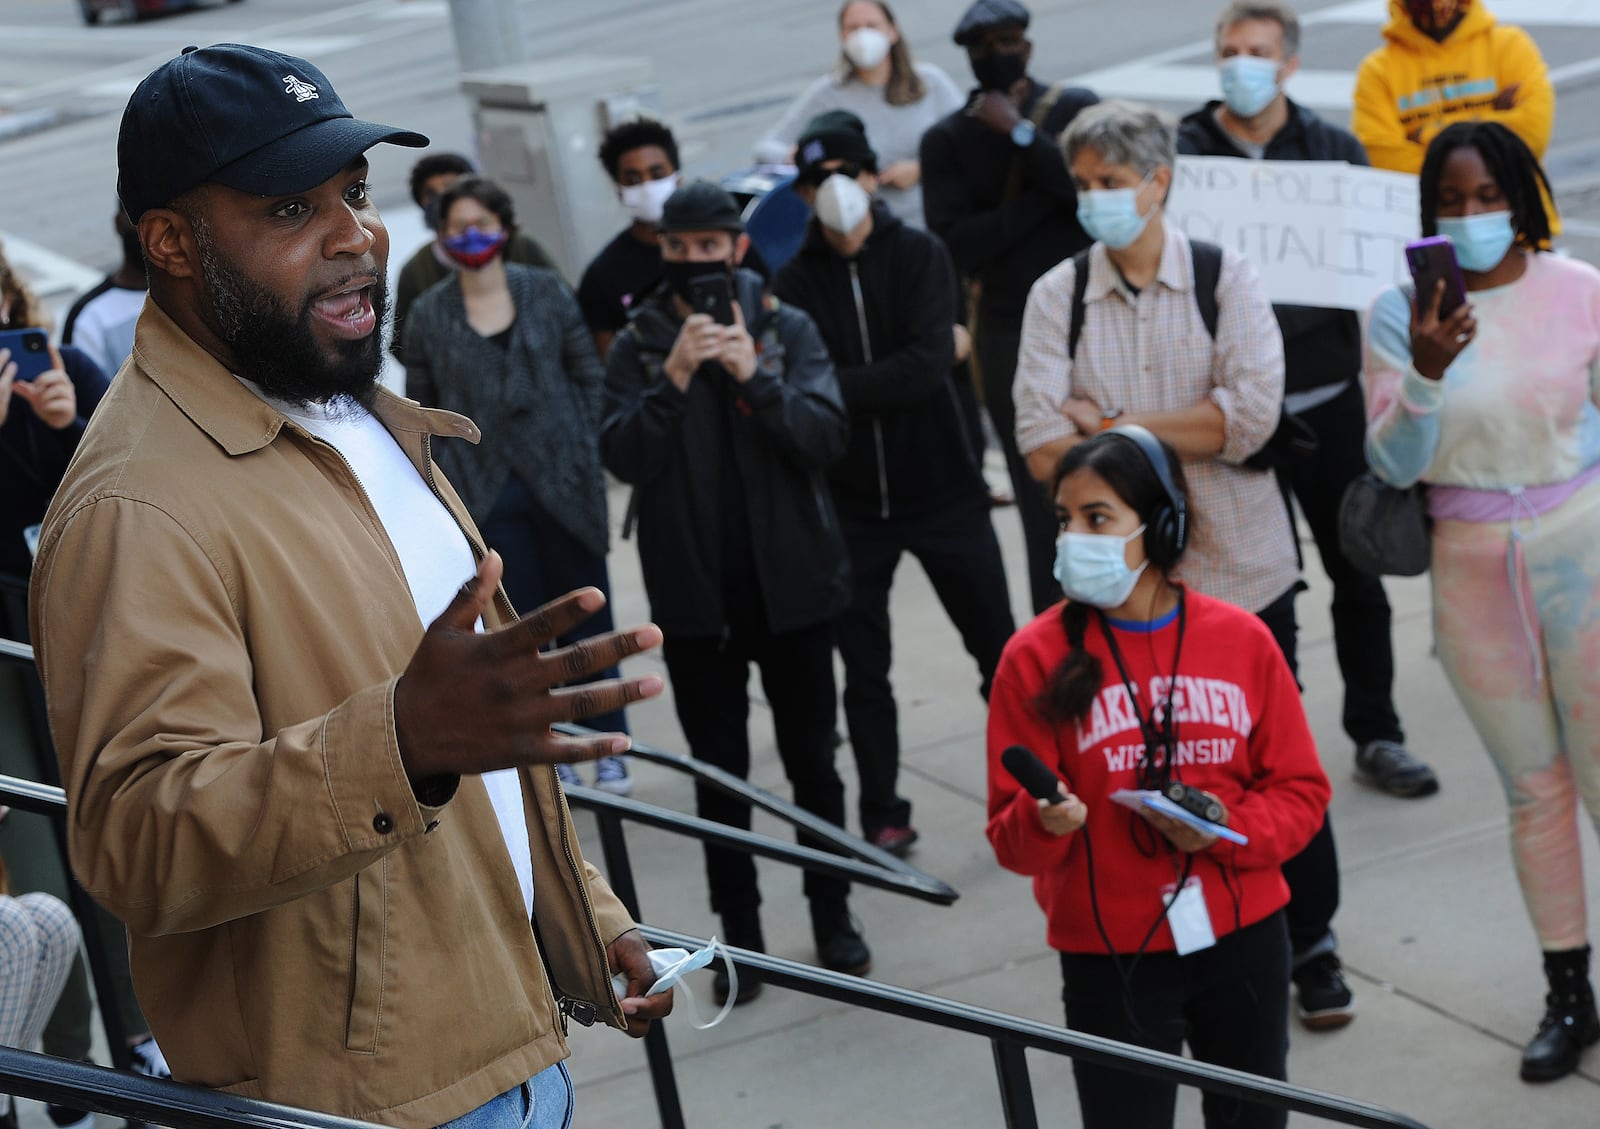
[[[606,358],[600,457],[634,485],[645,592],[667,640],[678,723],[698,760],[747,776],[754,662],[795,803],[843,825],[834,619],[850,601],[850,564],[822,477],[848,432],[834,365],[811,318],[739,269],[749,238],[733,197],[688,181],[662,206],[659,232],[664,283]],[[690,304],[730,286],[725,321]],[[715,788],[698,787],[694,803],[706,819],[750,827],[749,806]],[[723,940],[763,950],[755,862],[706,848],[706,876]],[[872,958],[848,889],[805,876],[822,964],[862,974]],[[755,971],[742,969],[738,999],[758,990]],[[725,974],[717,995],[726,999]]]

